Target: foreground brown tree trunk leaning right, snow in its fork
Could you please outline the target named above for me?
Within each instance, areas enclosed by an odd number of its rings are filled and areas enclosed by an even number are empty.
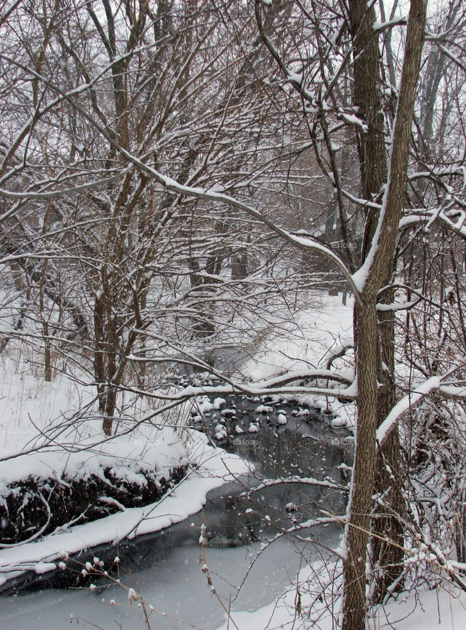
[[[426,20],[426,0],[412,0],[406,49],[392,137],[387,188],[377,229],[360,274],[362,289],[357,305],[358,382],[357,446],[348,510],[347,556],[343,562],[343,630],[364,630],[366,621],[366,558],[369,514],[375,483],[377,450],[377,299],[394,265],[398,224],[406,190],[409,139],[419,78]]]

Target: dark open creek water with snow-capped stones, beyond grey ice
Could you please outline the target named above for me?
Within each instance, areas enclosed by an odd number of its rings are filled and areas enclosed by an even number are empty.
[[[346,430],[331,426],[329,416],[296,403],[233,396],[226,397],[218,410],[204,412],[203,416],[198,428],[214,443],[254,466],[249,478],[243,479],[242,492],[238,492],[238,484],[227,484],[208,495],[210,544],[257,541],[295,522],[320,517],[321,510],[341,512],[345,507],[344,492],[323,486],[280,483],[247,492],[264,479],[291,477],[345,485],[352,440]],[[284,418],[286,424],[280,424]],[[257,432],[250,432],[252,423]],[[215,438],[219,437],[218,425],[224,427],[223,439]],[[238,429],[243,433],[236,433]]]

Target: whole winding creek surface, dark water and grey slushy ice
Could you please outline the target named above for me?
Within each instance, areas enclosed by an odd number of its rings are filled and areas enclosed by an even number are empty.
[[[275,536],[277,526],[286,529],[293,520],[302,522],[318,517],[321,509],[341,512],[344,495],[325,487],[292,484],[240,496],[245,488],[257,485],[261,479],[299,475],[345,483],[347,471],[341,464],[349,465],[351,459],[347,434],[331,427],[325,416],[311,413],[283,401],[227,398],[219,410],[204,414],[199,428],[214,436],[219,425],[224,427],[226,437],[219,445],[247,458],[255,466],[255,472],[251,478],[241,479],[241,486],[225,484],[211,491],[202,513],[119,547],[121,581],[129,587],[135,587],[136,583],[148,604],[179,620],[154,612],[150,618],[153,628],[189,627],[183,623],[186,622],[213,630],[225,617],[218,601],[211,597],[199,566],[197,541],[202,522],[209,540],[206,561],[217,592],[227,602],[232,600],[233,619],[235,610],[255,610],[277,599],[289,587],[290,579],[296,577],[300,566],[313,558],[316,553],[313,544],[298,543],[291,537],[274,541],[262,554],[258,555],[258,550],[262,542]],[[257,426],[257,432],[250,432],[251,423]],[[338,527],[314,529],[313,536],[334,546],[339,530]],[[116,549],[108,547],[93,551],[104,560],[111,560],[116,554]],[[82,562],[92,562],[92,557],[89,552],[83,553]],[[255,563],[248,573],[252,559]],[[2,595],[1,628],[111,630],[118,628],[118,624],[123,630],[143,627],[135,605],[128,605],[126,591],[121,587],[96,588],[92,592],[89,588],[57,588],[61,575],[36,578],[29,592]],[[236,587],[244,579],[238,593]],[[103,583],[93,581],[97,586]],[[116,605],[109,604],[111,599]]]

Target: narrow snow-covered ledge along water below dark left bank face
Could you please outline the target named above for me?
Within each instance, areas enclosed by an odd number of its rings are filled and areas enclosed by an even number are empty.
[[[116,544],[125,537],[156,532],[180,522],[201,510],[209,490],[250,469],[240,457],[209,446],[199,433],[193,433],[189,452],[192,468],[186,478],[157,503],[128,508],[95,522],[70,527],[38,542],[2,549],[0,584],[23,571],[54,570],[56,561],[64,553],[77,553],[104,543]]]

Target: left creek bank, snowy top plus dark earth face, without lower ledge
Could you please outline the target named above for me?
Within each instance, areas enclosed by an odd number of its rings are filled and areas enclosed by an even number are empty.
[[[11,360],[1,377],[2,546],[152,503],[184,473],[186,450],[172,428],[104,440],[91,388],[65,375],[45,382]]]

